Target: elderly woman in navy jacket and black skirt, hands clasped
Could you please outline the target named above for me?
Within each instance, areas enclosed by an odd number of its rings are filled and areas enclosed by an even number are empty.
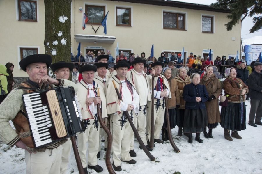
[[[208,101],[208,92],[205,85],[200,83],[200,75],[191,75],[192,83],[185,85],[183,99],[185,100],[185,115],[183,131],[188,133],[188,143],[192,143],[192,133],[196,133],[196,141],[203,143],[200,133],[207,126],[207,112],[205,102]]]

